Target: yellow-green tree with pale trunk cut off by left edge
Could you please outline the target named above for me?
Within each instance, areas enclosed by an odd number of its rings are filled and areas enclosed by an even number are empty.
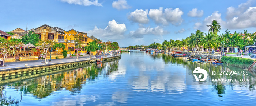
[[[2,43],[0,43],[0,54],[3,55],[3,66],[6,55],[10,52],[12,48],[16,47],[18,44],[19,42],[11,40],[3,40]]]

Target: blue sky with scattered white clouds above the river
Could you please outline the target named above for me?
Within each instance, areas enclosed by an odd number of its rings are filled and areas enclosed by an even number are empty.
[[[229,29],[255,32],[256,0],[1,0],[0,30],[48,24],[74,28],[120,47],[185,39],[217,20]]]

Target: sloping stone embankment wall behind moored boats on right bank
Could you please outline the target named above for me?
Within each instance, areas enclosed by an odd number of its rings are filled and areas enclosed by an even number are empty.
[[[183,52],[184,54],[187,54],[188,56],[190,57],[193,57],[193,58],[202,58],[202,59],[206,59],[207,56],[209,59],[221,59],[221,56],[219,55],[210,55],[210,54],[204,54],[204,53],[192,53],[192,52]]]

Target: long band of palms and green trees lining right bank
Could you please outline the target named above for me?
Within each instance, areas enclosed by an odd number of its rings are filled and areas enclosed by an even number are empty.
[[[142,46],[141,48],[155,48],[162,50],[195,50],[204,51],[211,49],[219,50],[218,47],[238,47],[242,50],[246,49],[245,46],[253,44],[253,40],[256,38],[255,33],[244,32],[231,33],[229,30],[225,30],[225,34],[218,34],[221,30],[221,25],[216,20],[213,20],[209,27],[208,33],[204,33],[201,30],[191,33],[185,39],[181,40],[164,40],[161,43],[151,43],[148,46]],[[129,46],[129,49],[139,48],[138,46]],[[233,53],[234,49],[231,50]]]

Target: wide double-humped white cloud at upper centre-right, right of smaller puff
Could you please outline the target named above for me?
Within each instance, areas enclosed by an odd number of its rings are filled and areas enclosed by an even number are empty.
[[[169,25],[171,23],[176,26],[183,22],[181,15],[183,15],[183,11],[180,8],[166,8],[163,11],[163,8],[160,7],[159,9],[150,9],[148,13],[148,16],[157,24]]]

